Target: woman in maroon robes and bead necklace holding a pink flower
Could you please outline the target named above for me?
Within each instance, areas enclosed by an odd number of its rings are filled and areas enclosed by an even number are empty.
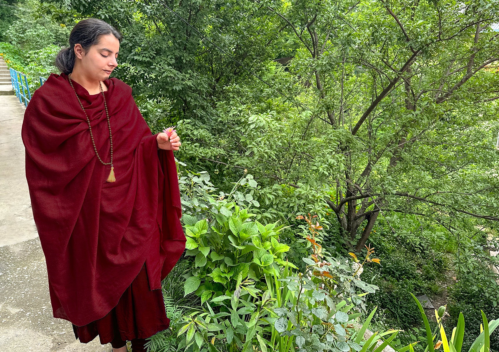
[[[29,102],[21,136],[53,316],[82,343],[146,351],[169,327],[161,281],[185,249],[175,130],[152,135],[131,88],[109,75],[121,34],[78,22]]]

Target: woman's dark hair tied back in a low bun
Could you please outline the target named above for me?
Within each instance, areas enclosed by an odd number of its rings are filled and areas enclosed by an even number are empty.
[[[99,42],[102,35],[112,34],[120,42],[123,35],[109,23],[99,18],[85,18],[76,23],[69,34],[69,47],[62,48],[55,58],[55,66],[65,73],[70,74],[73,72],[74,61],[76,56],[74,54],[74,44],[79,43],[83,50],[87,51],[92,45]]]

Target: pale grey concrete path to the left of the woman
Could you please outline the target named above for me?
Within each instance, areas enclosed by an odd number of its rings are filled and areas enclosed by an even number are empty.
[[[24,110],[15,95],[0,95],[0,351],[110,352],[99,337],[80,343],[70,322],[52,316],[24,169]]]

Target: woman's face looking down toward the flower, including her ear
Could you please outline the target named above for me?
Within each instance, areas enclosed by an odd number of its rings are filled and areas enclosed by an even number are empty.
[[[99,42],[92,45],[86,53],[82,49],[81,44],[76,43],[74,45],[76,61],[80,61],[79,63],[81,63],[81,65],[78,65],[80,66],[78,69],[82,70],[83,74],[89,80],[106,80],[116,66],[118,66],[117,58],[119,49],[120,42],[112,34],[101,35]]]

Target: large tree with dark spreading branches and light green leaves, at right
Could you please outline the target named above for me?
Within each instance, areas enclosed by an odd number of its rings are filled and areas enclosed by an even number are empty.
[[[308,130],[341,135],[344,165],[330,171],[336,195],[325,201],[356,251],[382,211],[439,222],[499,221],[499,182],[484,173],[499,161],[492,143],[499,33],[490,29],[498,5],[374,0],[268,7],[305,48],[295,72],[314,76],[316,123]]]

